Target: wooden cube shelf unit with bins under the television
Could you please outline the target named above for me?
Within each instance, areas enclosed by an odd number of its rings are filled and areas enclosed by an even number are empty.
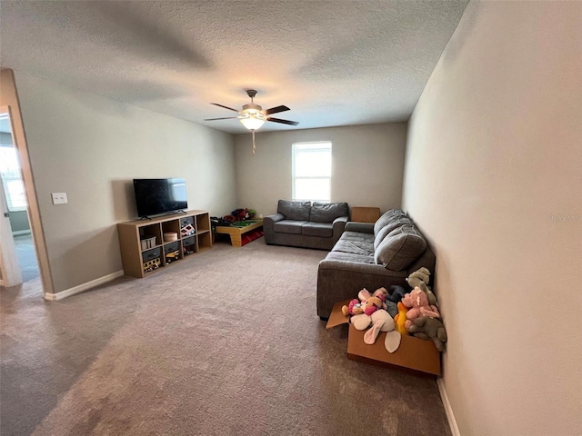
[[[188,224],[195,233],[182,235],[180,230]],[[175,232],[177,241],[165,242],[164,233]],[[168,266],[206,252],[212,248],[210,214],[206,211],[186,211],[153,218],[117,224],[121,260],[126,275],[146,277]],[[155,242],[142,247],[142,240],[156,238]],[[176,253],[177,252],[177,253]],[[157,264],[157,268],[146,271],[145,264]]]

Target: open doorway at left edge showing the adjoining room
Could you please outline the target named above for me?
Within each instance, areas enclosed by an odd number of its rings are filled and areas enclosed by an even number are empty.
[[[9,287],[40,276],[35,239],[28,213],[21,157],[16,148],[10,113],[0,108],[0,284]],[[40,286],[40,280],[39,286]]]

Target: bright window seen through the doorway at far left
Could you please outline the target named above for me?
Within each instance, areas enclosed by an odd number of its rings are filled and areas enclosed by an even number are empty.
[[[0,146],[0,177],[4,186],[8,212],[25,211],[25,183],[22,180],[20,161],[15,147]]]

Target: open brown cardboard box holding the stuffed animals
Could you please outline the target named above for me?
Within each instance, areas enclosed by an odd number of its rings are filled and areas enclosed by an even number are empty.
[[[342,313],[342,306],[346,302],[336,302],[326,324],[327,329],[337,325],[349,323],[349,317]],[[402,336],[400,347],[396,352],[387,352],[384,347],[385,332],[378,334],[372,345],[364,342],[366,331],[358,331],[353,324],[349,324],[347,333],[347,358],[353,361],[366,362],[380,366],[400,367],[423,372],[426,374],[441,375],[440,352],[432,341],[423,341],[414,336]]]

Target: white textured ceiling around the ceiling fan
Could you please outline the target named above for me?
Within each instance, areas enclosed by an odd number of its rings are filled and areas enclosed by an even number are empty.
[[[300,123],[261,131],[406,121],[467,3],[1,1],[0,64],[232,134],[248,88]]]

